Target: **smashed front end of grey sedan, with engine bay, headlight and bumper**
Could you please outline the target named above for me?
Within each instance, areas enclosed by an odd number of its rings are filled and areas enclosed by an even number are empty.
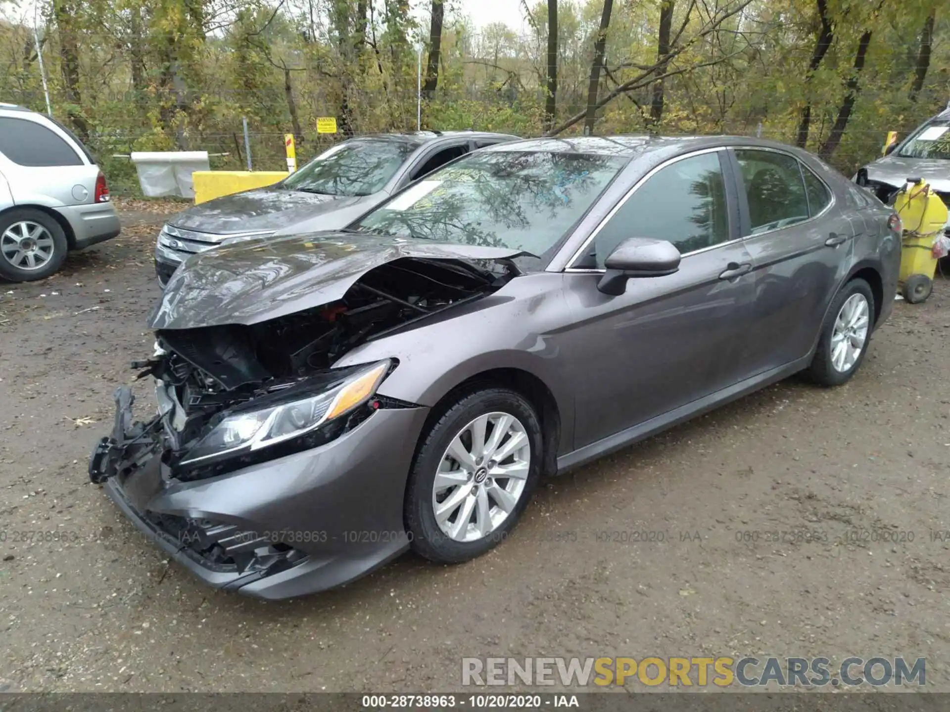
[[[401,495],[386,497],[395,502],[386,525],[393,534],[367,544],[370,553],[348,534],[352,516],[333,508],[343,509],[339,500],[360,489],[364,473],[386,487],[405,486],[409,440],[426,409],[377,394],[398,367],[395,358],[333,365],[368,341],[483,298],[517,273],[505,260],[403,257],[359,275],[339,299],[295,313],[159,328],[152,357],[133,364],[139,379],[154,381],[158,413],[135,421],[132,392],[120,386],[112,433],[96,445],[89,478],[212,585],[244,590],[248,581],[308,566],[337,576],[330,585],[342,583],[352,577],[352,558],[333,573],[320,556],[356,557],[365,567],[408,545]],[[338,444],[373,418],[369,430]],[[385,465],[368,466],[376,459]],[[242,482],[219,478],[229,473]],[[371,508],[366,516],[364,529],[380,518]]]

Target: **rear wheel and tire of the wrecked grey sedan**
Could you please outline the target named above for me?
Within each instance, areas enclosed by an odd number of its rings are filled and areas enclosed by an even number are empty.
[[[828,309],[818,348],[808,366],[815,383],[841,385],[864,361],[871,340],[874,292],[864,279],[852,279],[835,295]]]

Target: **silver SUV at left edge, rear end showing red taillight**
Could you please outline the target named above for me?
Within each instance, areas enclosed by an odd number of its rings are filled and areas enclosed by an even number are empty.
[[[119,234],[105,177],[66,126],[0,103],[0,278],[43,279]]]

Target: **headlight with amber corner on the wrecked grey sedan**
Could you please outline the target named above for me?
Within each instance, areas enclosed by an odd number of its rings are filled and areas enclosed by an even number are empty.
[[[181,464],[239,450],[253,451],[304,435],[370,400],[390,365],[388,360],[370,365],[315,396],[229,415],[188,452]]]

